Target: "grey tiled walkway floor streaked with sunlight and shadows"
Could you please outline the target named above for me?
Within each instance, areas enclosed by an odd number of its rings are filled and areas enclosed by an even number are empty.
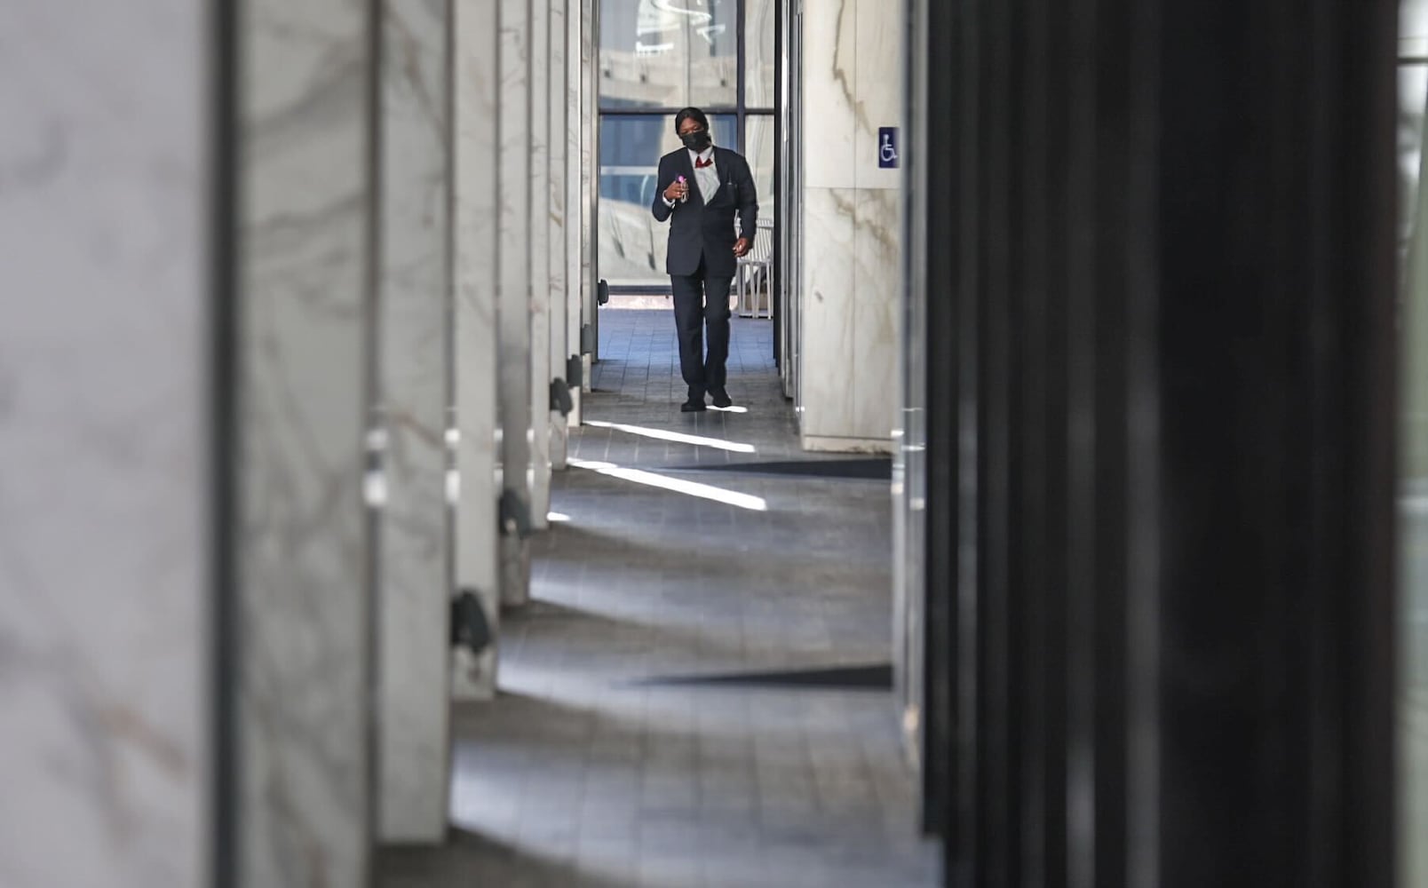
[[[678,413],[670,313],[601,326],[570,520],[506,618],[501,698],[457,712],[453,841],[380,884],[935,885],[891,694],[660,681],[887,662],[888,484],[698,468],[805,458],[768,321],[735,320],[747,413],[707,414]]]

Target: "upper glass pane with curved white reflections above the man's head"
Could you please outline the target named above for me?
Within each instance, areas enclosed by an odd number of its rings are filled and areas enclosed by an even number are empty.
[[[601,0],[600,106],[733,106],[737,0]]]

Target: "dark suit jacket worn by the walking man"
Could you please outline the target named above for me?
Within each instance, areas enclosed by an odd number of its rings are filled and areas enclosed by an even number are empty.
[[[754,194],[754,176],[748,171],[748,161],[735,151],[715,146],[714,168],[718,171],[718,191],[704,206],[688,150],[680,148],[660,158],[658,188],[650,211],[660,221],[674,217],[670,223],[670,254],[664,266],[668,274],[694,274],[703,254],[705,274],[734,277],[734,210],[738,210],[738,236],[747,237],[750,243],[754,240],[758,196]],[[690,197],[670,208],[664,206],[664,190],[680,176],[690,184]]]

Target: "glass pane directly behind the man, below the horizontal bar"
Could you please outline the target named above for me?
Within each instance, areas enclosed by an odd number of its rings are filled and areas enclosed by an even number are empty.
[[[710,128],[714,144],[738,147],[734,116],[711,116]],[[671,116],[600,118],[600,277],[611,287],[670,283],[664,273],[668,224],[654,221],[650,204],[660,157],[678,147]]]

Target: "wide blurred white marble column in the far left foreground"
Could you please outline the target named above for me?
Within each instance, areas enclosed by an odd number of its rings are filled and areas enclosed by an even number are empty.
[[[0,885],[213,867],[207,3],[0,3]]]

